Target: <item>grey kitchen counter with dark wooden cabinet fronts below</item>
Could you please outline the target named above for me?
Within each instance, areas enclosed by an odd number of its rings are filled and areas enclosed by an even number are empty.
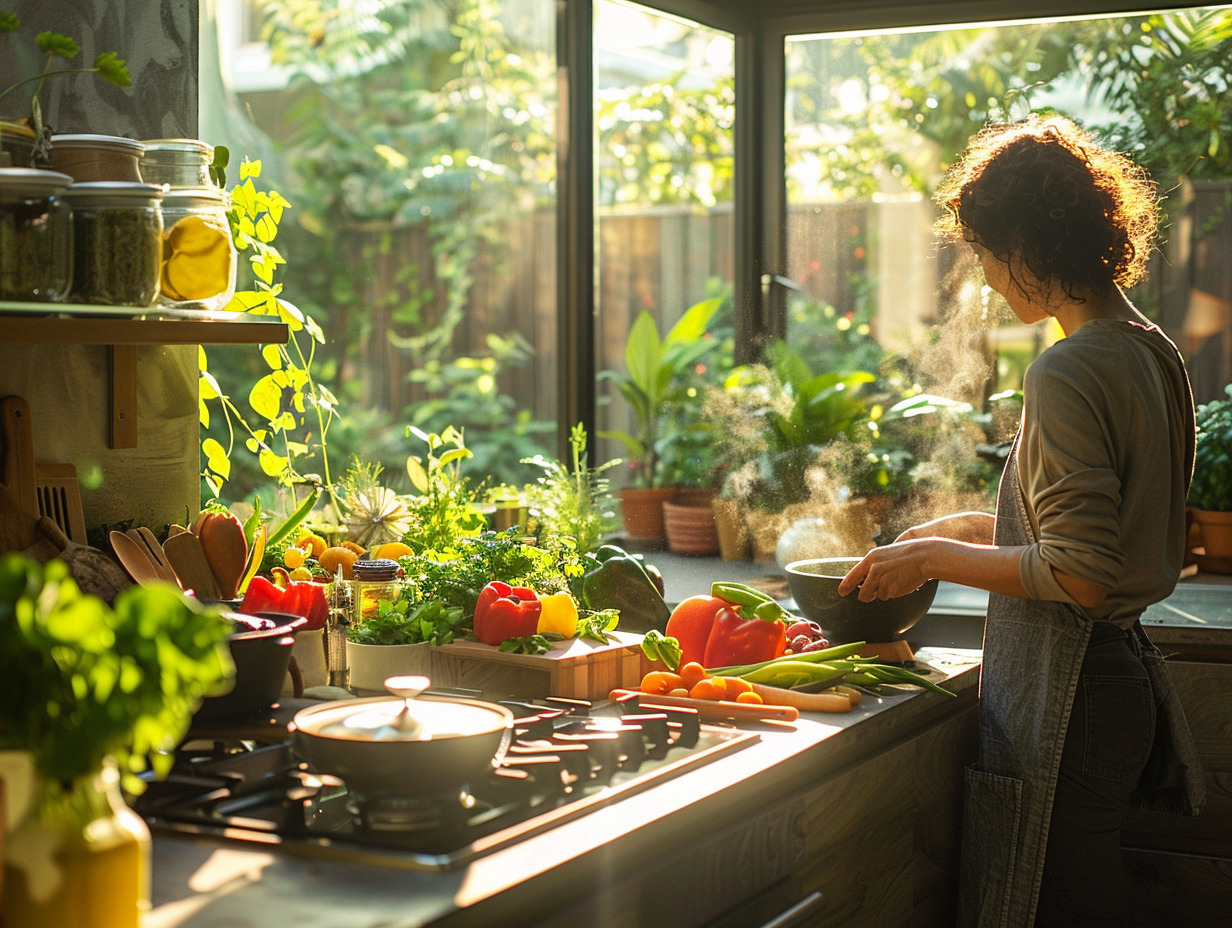
[[[675,599],[706,592],[710,578],[776,573],[772,564],[655,560],[669,598],[679,590]],[[1226,885],[1218,889],[1227,871],[1226,838],[1218,836],[1232,799],[1222,786],[1232,764],[1225,747],[1232,722],[1214,715],[1210,706],[1222,702],[1205,688],[1226,695],[1232,669],[1206,663],[1212,653],[1232,653],[1230,579],[1186,578],[1145,619],[1165,653],[1196,654],[1177,667],[1177,677],[1186,711],[1190,702],[1209,707],[1191,714],[1191,723],[1214,786],[1204,816],[1149,820],[1135,836],[1145,850],[1131,854],[1131,865],[1153,880],[1137,881],[1135,891],[1156,893],[1143,902],[1152,917],[1164,918],[1169,907],[1184,912],[1185,902],[1168,898],[1161,885],[1198,886],[1207,902],[1227,893]],[[957,699],[912,691],[865,698],[845,715],[763,723],[748,747],[452,871],[158,836],[154,908],[144,926],[744,928],[797,906],[824,912],[801,926],[945,923],[954,905],[962,768],[975,752],[982,596],[939,590],[931,613],[908,633]],[[1178,832],[1178,824],[1189,831]],[[1159,853],[1175,847],[1179,854]],[[1189,869],[1165,868],[1173,864]]]

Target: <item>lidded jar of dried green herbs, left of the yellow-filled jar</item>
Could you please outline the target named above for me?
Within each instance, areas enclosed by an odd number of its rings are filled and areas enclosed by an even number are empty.
[[[163,187],[74,184],[64,198],[73,207],[73,301],[153,304],[163,264]]]

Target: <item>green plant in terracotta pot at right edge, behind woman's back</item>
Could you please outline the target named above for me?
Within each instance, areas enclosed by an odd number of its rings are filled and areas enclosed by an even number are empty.
[[[1188,502],[1201,532],[1200,566],[1232,573],[1232,383],[1223,392],[1225,399],[1202,403],[1194,417],[1198,436]]]

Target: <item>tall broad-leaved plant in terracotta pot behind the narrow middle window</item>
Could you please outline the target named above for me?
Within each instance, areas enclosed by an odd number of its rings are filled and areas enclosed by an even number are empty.
[[[715,348],[706,329],[722,306],[713,297],[695,303],[667,335],[649,311],[643,309],[630,328],[625,343],[625,373],[604,371],[601,378],[616,383],[633,417],[632,431],[601,431],[627,449],[633,465],[633,486],[620,490],[625,531],[636,542],[658,545],[663,541],[663,502],[674,494],[663,483],[659,467],[659,436],[664,409],[673,381]]]

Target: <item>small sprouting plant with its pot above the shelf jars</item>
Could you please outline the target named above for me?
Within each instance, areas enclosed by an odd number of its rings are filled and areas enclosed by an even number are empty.
[[[17,14],[0,12],[0,32],[16,32],[21,28]],[[41,32],[34,38],[38,52],[44,55],[43,67],[37,74],[22,78],[0,90],[0,100],[18,88],[34,85],[30,99],[30,115],[0,118],[0,166],[10,164],[14,158],[22,166],[43,164],[49,154],[51,127],[43,123],[43,110],[38,96],[48,78],[62,74],[95,74],[100,80],[115,84],[117,88],[132,86],[132,76],[124,62],[115,52],[103,52],[94,59],[90,68],[57,67],[58,62],[71,62],[81,53],[76,41],[58,32]],[[2,104],[0,104],[2,106]],[[11,140],[10,140],[11,139]]]

